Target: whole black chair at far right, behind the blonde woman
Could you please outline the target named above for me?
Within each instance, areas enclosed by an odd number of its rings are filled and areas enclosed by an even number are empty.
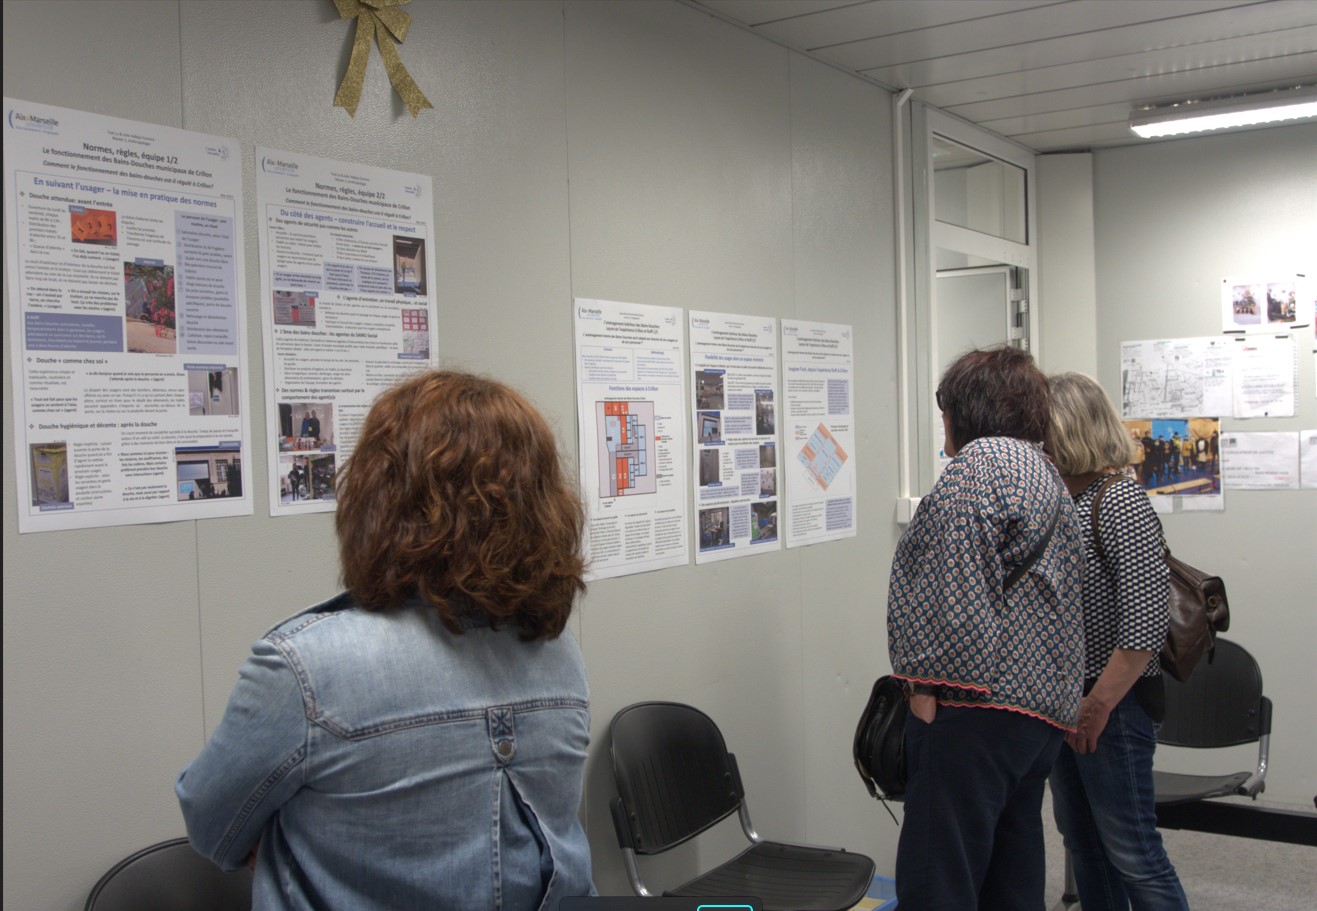
[[[1271,699],[1262,694],[1262,670],[1242,645],[1217,638],[1216,654],[1204,658],[1187,683],[1166,681],[1166,720],[1158,744],[1220,749],[1258,744],[1258,765],[1223,775],[1154,771],[1156,803],[1175,806],[1233,794],[1254,798],[1267,782],[1271,746]]]

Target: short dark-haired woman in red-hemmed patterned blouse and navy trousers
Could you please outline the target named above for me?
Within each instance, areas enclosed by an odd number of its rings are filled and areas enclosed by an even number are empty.
[[[1080,532],[1042,452],[1047,378],[1029,354],[964,354],[936,402],[952,459],[897,544],[888,592],[910,710],[897,900],[1042,911],[1043,786],[1079,716]]]

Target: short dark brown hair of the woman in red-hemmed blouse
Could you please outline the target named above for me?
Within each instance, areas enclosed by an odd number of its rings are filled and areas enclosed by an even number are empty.
[[[975,349],[942,374],[938,408],[951,421],[956,449],[979,437],[1042,442],[1050,412],[1047,377],[1018,348]]]

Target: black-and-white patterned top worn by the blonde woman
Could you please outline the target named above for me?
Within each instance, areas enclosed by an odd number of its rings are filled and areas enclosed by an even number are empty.
[[[1093,495],[1098,478],[1075,498],[1084,536],[1084,677],[1094,679],[1115,649],[1152,652],[1143,677],[1162,673],[1156,653],[1166,641],[1169,570],[1162,560],[1162,523],[1133,481],[1113,482],[1098,508],[1102,554],[1093,542]]]

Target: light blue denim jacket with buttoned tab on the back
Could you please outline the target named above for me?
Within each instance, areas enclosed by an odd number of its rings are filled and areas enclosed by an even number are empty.
[[[552,911],[595,894],[576,638],[469,625],[340,595],[252,648],[175,790],[200,853],[232,870],[257,848],[257,911]]]

